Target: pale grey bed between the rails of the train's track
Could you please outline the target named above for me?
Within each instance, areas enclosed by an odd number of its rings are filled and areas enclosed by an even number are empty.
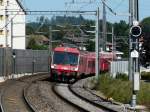
[[[95,105],[92,105],[90,102],[81,99],[69,89],[67,84],[56,84],[54,86],[54,91],[67,102],[75,105],[76,107],[82,109],[84,112],[108,112],[102,108],[98,108]]]

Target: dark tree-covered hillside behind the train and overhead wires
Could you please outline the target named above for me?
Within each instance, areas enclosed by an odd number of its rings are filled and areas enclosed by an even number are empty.
[[[46,36],[47,38],[49,38],[49,35],[50,35],[49,27],[50,26],[54,30],[59,30],[59,32],[52,33],[53,40],[64,40],[63,38],[67,34],[73,34],[75,37],[81,37],[82,35],[81,35],[81,31],[79,29],[79,27],[80,27],[83,30],[84,35],[88,35],[87,38],[89,38],[89,41],[87,41],[87,44],[86,44],[87,50],[94,51],[95,50],[95,42],[91,41],[91,39],[94,39],[95,37],[93,34],[86,32],[86,31],[92,31],[92,30],[94,31],[94,28],[91,27],[94,25],[95,25],[94,20],[85,19],[81,15],[79,17],[56,16],[56,17],[52,17],[51,20],[49,20],[48,18],[46,18],[44,16],[38,17],[35,22],[30,22],[30,23],[27,23],[27,25],[26,25],[26,27],[27,27],[26,34],[32,35],[32,37],[29,36],[30,37],[29,41],[31,40],[32,42],[29,42],[28,45],[30,45],[30,46],[28,46],[27,48],[36,49],[35,46],[38,46],[37,49],[39,49],[41,45],[36,45],[36,42],[34,42],[36,37],[33,38],[33,36],[43,32],[43,35]],[[111,32],[112,25],[114,26],[114,29],[115,29],[114,35],[117,38],[117,40],[116,40],[117,50],[125,52],[125,54],[127,55],[128,54],[127,53],[128,52],[128,47],[127,47],[128,42],[126,42],[127,44],[122,44],[122,43],[125,43],[124,41],[127,41],[127,39],[128,39],[128,29],[129,29],[128,24],[125,21],[120,21],[119,23],[114,23],[114,24],[107,22],[107,31],[108,32]],[[102,31],[102,20],[100,20],[100,31]],[[107,41],[111,42],[112,36],[107,35],[107,37],[108,37]],[[31,45],[31,43],[34,45]],[[32,46],[34,46],[34,47],[32,47]],[[43,47],[43,46],[41,46],[41,47]],[[45,48],[46,47],[44,46],[44,49]],[[40,49],[43,49],[43,48],[40,48]]]

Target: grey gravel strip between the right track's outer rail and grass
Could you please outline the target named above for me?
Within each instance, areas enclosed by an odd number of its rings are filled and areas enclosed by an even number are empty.
[[[124,105],[114,103],[112,101],[108,101],[102,97],[94,94],[90,89],[86,88],[85,85],[86,79],[80,80],[73,85],[69,85],[69,90],[77,95],[79,98],[89,102],[95,107],[102,108],[105,111],[109,112],[126,112],[126,108]]]

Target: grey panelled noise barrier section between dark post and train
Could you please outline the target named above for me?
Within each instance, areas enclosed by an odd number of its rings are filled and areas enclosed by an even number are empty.
[[[47,50],[14,50],[14,73],[48,72]]]

